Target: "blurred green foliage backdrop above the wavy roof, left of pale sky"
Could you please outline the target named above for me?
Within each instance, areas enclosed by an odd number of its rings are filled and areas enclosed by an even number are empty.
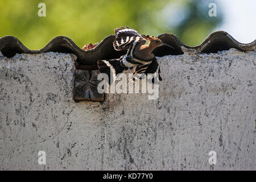
[[[46,17],[38,16],[41,2],[46,4]],[[64,35],[82,47],[127,25],[141,34],[172,32],[183,43],[196,46],[222,20],[218,6],[217,17],[208,16],[210,2],[214,1],[0,0],[0,37],[13,35],[24,46],[40,49],[55,36]]]

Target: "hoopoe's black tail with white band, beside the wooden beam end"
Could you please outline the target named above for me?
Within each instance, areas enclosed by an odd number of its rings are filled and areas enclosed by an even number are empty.
[[[127,69],[121,66],[119,59],[98,60],[98,68],[100,73],[105,73],[108,75],[109,85],[111,85],[112,82],[117,78],[118,73],[122,73]]]

